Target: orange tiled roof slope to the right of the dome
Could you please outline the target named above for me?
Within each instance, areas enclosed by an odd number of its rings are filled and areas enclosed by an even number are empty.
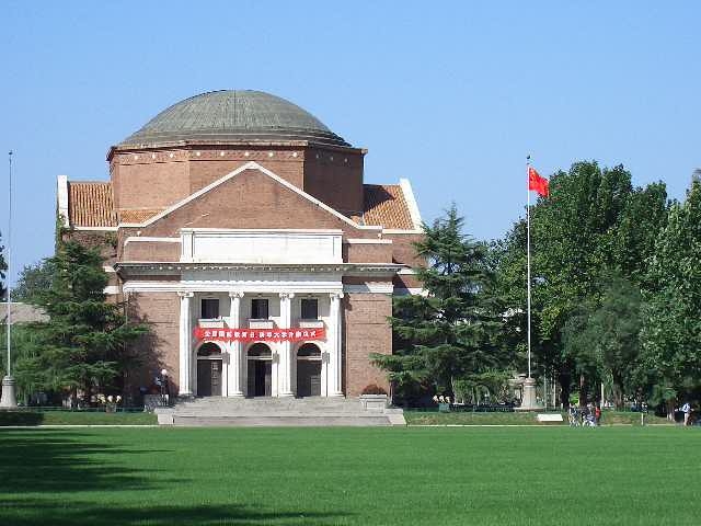
[[[414,224],[399,184],[365,184],[365,225],[412,230]]]

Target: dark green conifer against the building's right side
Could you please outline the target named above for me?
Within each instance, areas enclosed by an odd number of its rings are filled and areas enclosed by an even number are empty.
[[[394,299],[391,318],[394,354],[375,354],[400,389],[424,384],[455,393],[456,381],[498,365],[503,307],[493,296],[487,249],[462,233],[452,206],[433,226],[424,225],[414,244],[426,261],[417,278],[427,296]]]

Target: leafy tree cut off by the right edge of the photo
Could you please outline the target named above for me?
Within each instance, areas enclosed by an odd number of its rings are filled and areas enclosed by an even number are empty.
[[[640,382],[651,402],[675,402],[701,387],[701,182],[675,203],[655,244],[645,291]]]

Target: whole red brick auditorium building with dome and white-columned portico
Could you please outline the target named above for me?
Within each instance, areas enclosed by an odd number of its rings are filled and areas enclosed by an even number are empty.
[[[105,247],[106,293],[148,322],[133,391],[357,397],[388,388],[393,295],[418,293],[410,182],[364,183],[366,150],[258,91],[181,101],[113,146],[108,182],[58,176],[73,239]]]

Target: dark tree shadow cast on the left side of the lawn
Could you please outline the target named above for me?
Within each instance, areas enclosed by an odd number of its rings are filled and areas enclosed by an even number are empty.
[[[197,481],[169,477],[168,471],[124,467],[125,455],[173,454],[169,449],[135,448],[127,444],[104,444],[73,430],[0,428],[0,525],[311,525],[343,522],[345,513],[266,508],[251,503],[183,504],[169,500],[163,490],[195,487]],[[110,457],[115,456],[111,462]],[[138,462],[131,462],[138,464]],[[157,505],[143,505],[164,495]],[[101,492],[91,501],[77,492]],[[143,500],[125,504],[120,492],[145,493]],[[174,492],[177,493],[177,492]],[[104,494],[107,496],[105,498]],[[114,499],[110,499],[114,495]]]

